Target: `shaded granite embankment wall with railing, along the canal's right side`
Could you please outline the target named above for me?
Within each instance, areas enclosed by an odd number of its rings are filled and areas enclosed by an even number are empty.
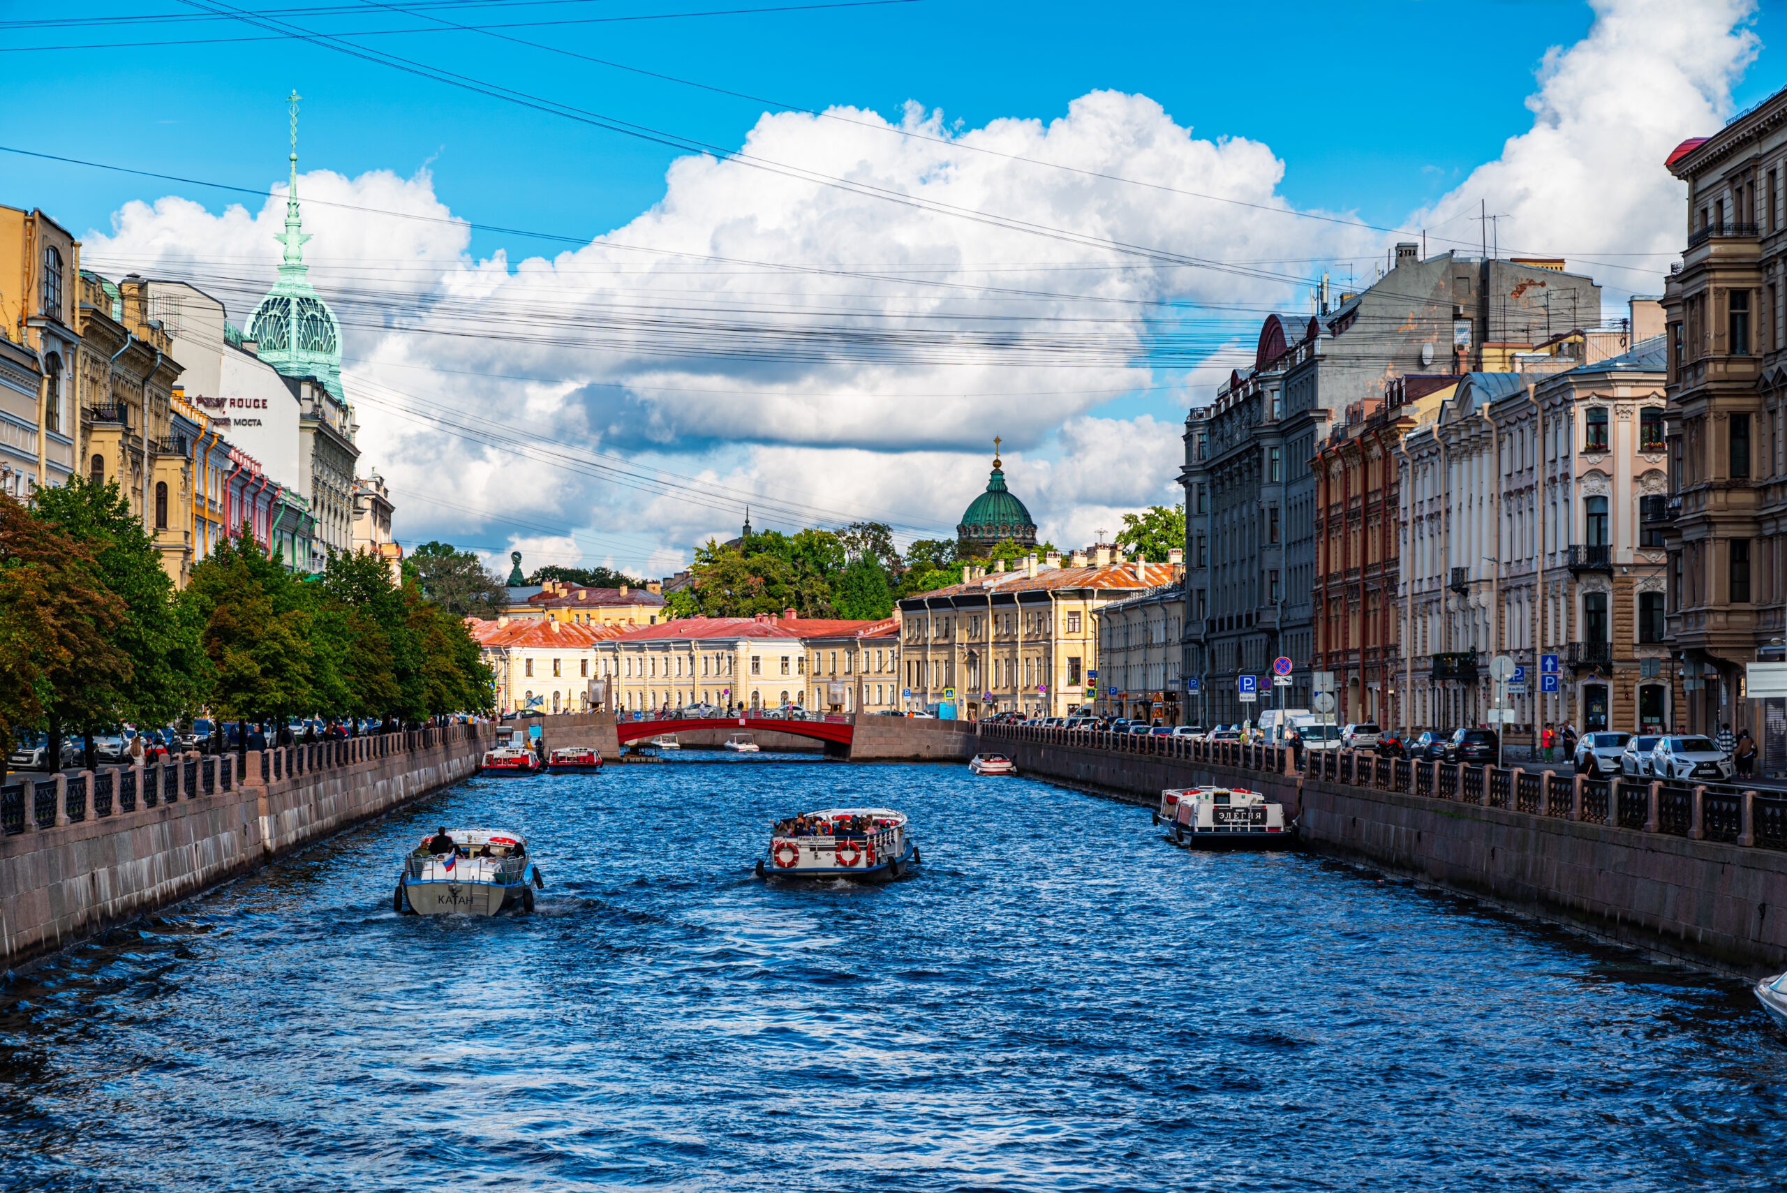
[[[1199,784],[1263,791],[1321,852],[1721,972],[1787,966],[1787,800],[1773,793],[1351,754],[1306,775],[1278,750],[999,725],[981,748],[1137,804]]]

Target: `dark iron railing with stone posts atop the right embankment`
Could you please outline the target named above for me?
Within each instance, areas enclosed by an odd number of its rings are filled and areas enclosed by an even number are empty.
[[[1730,784],[1691,788],[1646,779],[1605,780],[1549,770],[1388,759],[1378,757],[1374,750],[1306,750],[1299,768],[1299,759],[1288,748],[1240,741],[988,722],[981,722],[976,732],[986,743],[1029,741],[1262,775],[1297,775],[1301,770],[1303,780],[1456,800],[1515,816],[1578,820],[1696,841],[1787,850],[1787,793]]]

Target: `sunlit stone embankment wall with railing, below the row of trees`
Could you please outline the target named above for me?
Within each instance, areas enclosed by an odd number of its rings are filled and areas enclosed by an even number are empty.
[[[470,725],[245,759],[188,754],[170,766],[9,775],[0,963],[16,968],[465,779],[490,736]]]

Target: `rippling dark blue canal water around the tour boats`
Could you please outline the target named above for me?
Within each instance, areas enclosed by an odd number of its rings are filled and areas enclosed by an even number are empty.
[[[922,872],[752,877],[833,804]],[[536,913],[393,914],[438,823],[524,829]],[[0,1184],[1776,1189],[1783,1089],[1741,982],[1028,780],[684,754],[459,784],[11,980]]]

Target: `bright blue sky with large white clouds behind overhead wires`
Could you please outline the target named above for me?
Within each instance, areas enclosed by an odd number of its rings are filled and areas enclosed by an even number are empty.
[[[979,157],[938,155],[927,148],[935,143],[861,130],[858,118],[854,125],[763,121],[763,113],[774,111],[763,102],[479,32],[357,38],[359,45],[481,84],[727,150],[742,146],[756,129],[756,152],[776,161],[829,163],[815,166],[820,173],[867,170],[895,189],[922,189],[960,171],[960,189],[936,191],[951,195],[947,202],[1072,236],[1128,238],[1281,277],[1308,279],[1326,268],[1340,280],[1355,263],[1369,270],[1394,238],[1260,216],[1258,205],[1349,213],[1383,227],[1421,221],[1435,227],[1439,250],[1439,229],[1458,239],[1476,236],[1469,216],[1485,202],[1508,214],[1505,245],[1592,261],[1576,268],[1594,271],[1615,298],[1615,291],[1657,289],[1674,248],[1678,204],[1660,171],[1658,146],[1710,130],[1719,116],[1773,93],[1783,73],[1767,50],[1782,23],[1780,5],[1751,9],[1742,0],[1603,0],[1599,25],[1587,4],[1540,0],[1133,4],[1095,14],[1067,4],[915,0],[724,16],[675,14],[788,5],[432,2],[438,7],[416,13],[320,0],[307,0],[302,16],[289,7],[256,11],[291,14],[286,20],[311,32],[341,36],[415,29],[436,18],[463,25],[599,18],[502,32],[797,107],[852,105],[899,121],[902,105],[917,102],[942,113],[944,125],[931,132],[945,141],[983,136],[976,130],[990,121],[1042,121],[1033,136],[986,132],[985,143],[1003,146],[995,152],[1128,179],[1160,168],[1172,186],[1254,207],[1187,207],[1187,200],[1156,196],[1162,205],[1151,211],[1147,193],[1128,184],[1112,191],[1028,166],[995,168],[983,150],[976,150]],[[9,20],[25,20],[23,13],[14,7]],[[88,48],[4,55],[4,111],[43,118],[9,121],[0,145],[266,188],[284,177],[284,96],[297,88],[304,95],[300,168],[331,171],[300,186],[300,195],[450,213],[577,239],[624,229],[618,239],[634,245],[756,263],[749,284],[726,282],[720,273],[690,282],[675,280],[677,270],[647,268],[638,257],[597,245],[540,263],[547,273],[527,280],[513,275],[522,257],[550,257],[574,245],[486,230],[431,239],[413,225],[356,227],[340,213],[313,207],[306,227],[318,232],[309,252],[320,257],[325,296],[331,284],[336,293],[375,286],[381,293],[402,291],[404,302],[440,304],[443,295],[470,288],[482,295],[479,302],[520,318],[525,311],[561,309],[552,304],[588,311],[591,302],[633,302],[638,295],[706,311],[724,291],[727,311],[747,311],[756,320],[824,323],[831,316],[813,309],[826,307],[836,320],[860,321],[858,309],[874,307],[861,318],[908,332],[947,327],[954,334],[972,330],[988,314],[1003,320],[1042,311],[1042,298],[1013,307],[1015,300],[994,298],[988,289],[1006,293],[1022,282],[1028,291],[1051,295],[1049,318],[1103,320],[1113,307],[1097,304],[1110,302],[1156,316],[1183,314],[1183,307],[1149,304],[1201,305],[1201,350],[1219,341],[1251,343],[1258,311],[1301,296],[1292,282],[1274,289],[1258,279],[1183,270],[1138,275],[1108,254],[1056,259],[1049,254],[1060,252],[1058,241],[965,232],[949,218],[899,223],[899,213],[829,204],[824,195],[815,202],[799,188],[786,189],[749,170],[684,163],[679,182],[667,189],[667,170],[683,157],[679,150],[302,39],[143,45],[266,36],[243,21],[191,20],[197,13],[173,0],[152,0],[147,14],[177,20],[98,25],[80,21],[141,18],[145,11],[84,4],[59,14],[71,21],[66,25],[7,29],[0,41],[9,50]],[[129,45],[93,48],[107,43]],[[1560,55],[1558,64],[1542,70],[1548,52]],[[1101,91],[1129,100],[1095,100]],[[1521,139],[1510,145],[1510,138]],[[164,196],[184,196],[204,211],[129,207]],[[89,238],[95,257],[113,252],[197,277],[211,270],[218,286],[238,284],[250,296],[257,282],[238,275],[261,277],[272,263],[272,246],[263,245],[266,227],[220,218],[225,204],[247,202],[241,214],[264,223],[263,204],[197,184],[0,155],[0,202],[43,207],[77,234],[102,234]],[[1113,214],[1113,205],[1122,211]],[[120,213],[136,214],[118,236],[104,236]],[[173,241],[186,246],[170,248]],[[718,252],[720,245],[731,248]],[[491,264],[499,250],[502,257]],[[252,264],[241,264],[250,257]],[[783,264],[854,270],[933,257],[956,263],[951,277],[979,289],[936,298],[910,279],[831,284],[790,280],[781,271]],[[1047,270],[1020,273],[1019,266],[1028,270],[1044,257],[1053,261]],[[359,264],[348,266],[350,259]],[[681,271],[699,273],[693,266]],[[500,277],[513,280],[497,282]],[[236,305],[232,300],[232,311]],[[801,311],[790,313],[797,305]],[[461,329],[477,318],[468,309],[452,314]],[[602,334],[625,339],[633,332],[604,325]],[[911,532],[947,530],[954,511],[985,482],[979,443],[1003,432],[1011,445],[1013,488],[1047,534],[1074,543],[1099,525],[1115,525],[1122,509],[1172,500],[1178,421],[1185,405],[1228,368],[1222,355],[1188,373],[1145,359],[1110,366],[1074,361],[1074,368],[1040,357],[981,364],[863,364],[840,357],[790,364],[718,359],[688,341],[677,341],[674,350],[663,341],[611,352],[593,343],[577,352],[561,348],[513,338],[474,346],[432,339],[420,348],[350,329],[348,366],[359,370],[365,395],[363,448],[388,475],[395,473],[400,493],[411,495],[400,505],[402,530],[495,554],[516,541],[550,557],[583,554],[642,570],[667,570],[688,557],[693,541],[727,529],[734,516],[720,507],[734,496],[740,504],[751,495],[781,496],[781,518],[790,523],[802,516],[826,521],[877,514],[897,516]],[[663,363],[667,357],[674,366]],[[397,411],[395,391],[415,400],[461,400],[466,409],[502,409],[515,425],[561,438],[581,452],[620,452],[667,477],[695,477],[709,486],[711,500],[695,502],[697,513],[688,513],[688,504],[668,489],[656,496],[617,489],[588,470],[547,464],[541,473],[534,461],[515,471],[513,454],[488,443],[466,439],[441,450],[440,430],[427,430],[415,413]],[[709,416],[736,414],[740,407],[751,418]],[[541,475],[556,479],[541,486]],[[1135,477],[1145,477],[1145,484]],[[525,507],[527,516],[520,518],[516,507]],[[768,518],[774,525],[777,514]],[[638,529],[642,523],[656,529]]]

